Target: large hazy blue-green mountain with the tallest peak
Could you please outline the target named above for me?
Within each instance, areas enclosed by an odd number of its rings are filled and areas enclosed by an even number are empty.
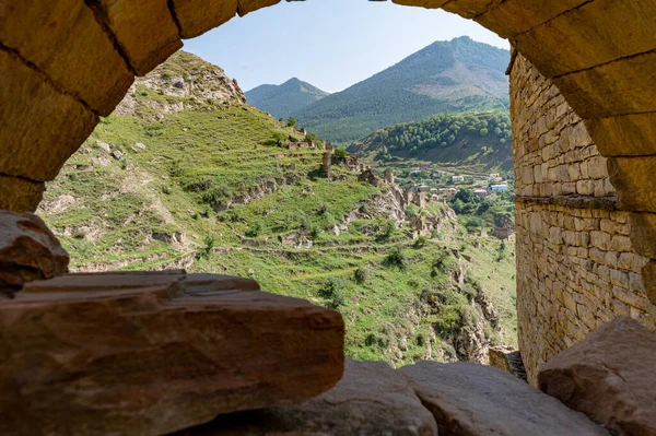
[[[292,115],[321,138],[350,143],[433,114],[507,108],[508,60],[507,50],[469,37],[437,42]]]

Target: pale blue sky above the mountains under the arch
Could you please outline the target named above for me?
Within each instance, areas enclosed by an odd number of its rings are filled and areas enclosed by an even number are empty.
[[[468,35],[508,48],[481,25],[441,11],[366,0],[281,2],[185,42],[248,91],[297,76],[341,91],[435,40]]]

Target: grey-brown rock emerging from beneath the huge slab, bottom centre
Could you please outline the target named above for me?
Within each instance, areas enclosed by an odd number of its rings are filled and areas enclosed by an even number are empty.
[[[408,380],[383,362],[347,360],[344,376],[306,403],[220,416],[176,436],[432,436],[433,415]]]

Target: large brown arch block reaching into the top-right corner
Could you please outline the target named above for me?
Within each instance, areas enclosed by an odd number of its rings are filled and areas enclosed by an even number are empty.
[[[596,0],[517,35],[512,43],[540,73],[553,78],[651,51],[656,48],[654,28],[656,3]]]

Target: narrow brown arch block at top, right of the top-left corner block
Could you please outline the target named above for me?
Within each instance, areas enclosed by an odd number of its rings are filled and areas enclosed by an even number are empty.
[[[96,0],[94,4],[139,75],[183,47],[166,0]]]

